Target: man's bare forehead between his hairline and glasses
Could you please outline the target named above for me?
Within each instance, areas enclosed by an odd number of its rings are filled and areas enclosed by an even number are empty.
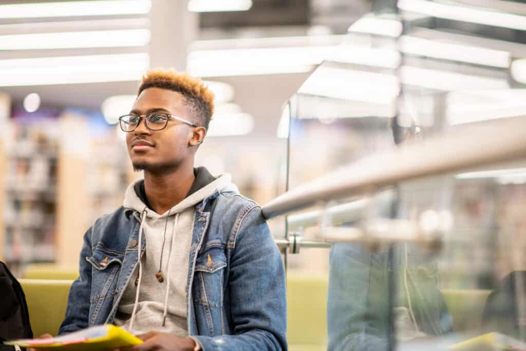
[[[171,114],[187,115],[185,96],[168,89],[148,88],[137,96],[133,111],[140,114],[148,113],[151,109],[163,108]]]

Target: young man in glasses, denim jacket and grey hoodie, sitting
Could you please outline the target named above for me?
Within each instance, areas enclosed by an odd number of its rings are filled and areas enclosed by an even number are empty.
[[[84,236],[59,334],[113,323],[136,350],[282,350],[285,273],[261,208],[194,168],[213,114],[197,79],[155,70],[119,118],[136,170],[124,205]]]

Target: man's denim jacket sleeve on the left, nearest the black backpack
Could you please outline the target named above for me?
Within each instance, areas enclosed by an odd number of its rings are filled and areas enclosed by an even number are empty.
[[[75,332],[88,327],[89,296],[92,286],[92,266],[85,259],[92,256],[92,228],[84,234],[84,244],[80,250],[79,277],[69,289],[66,317],[60,325],[58,334]]]

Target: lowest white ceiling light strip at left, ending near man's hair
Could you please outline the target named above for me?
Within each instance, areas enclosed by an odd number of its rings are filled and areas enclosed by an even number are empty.
[[[138,81],[149,66],[140,54],[0,60],[0,86]]]

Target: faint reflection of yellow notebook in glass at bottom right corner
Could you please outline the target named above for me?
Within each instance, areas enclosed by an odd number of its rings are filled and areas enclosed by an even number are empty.
[[[526,344],[500,333],[483,334],[449,347],[450,350],[525,350]]]

